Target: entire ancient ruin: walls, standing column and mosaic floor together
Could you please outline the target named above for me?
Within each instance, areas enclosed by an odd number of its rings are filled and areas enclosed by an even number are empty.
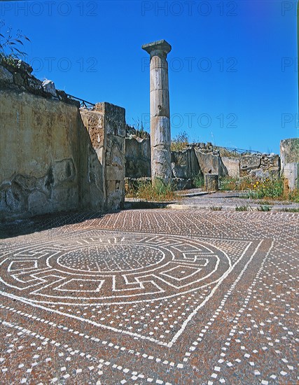
[[[0,64],[1,383],[297,384],[299,216],[282,209],[298,204],[236,212],[247,199],[215,190],[281,172],[298,188],[299,139],[281,158],[171,152],[171,47],[143,48],[151,137],[127,130],[120,106],[88,109],[22,61]],[[213,193],[120,210],[125,176],[177,188],[200,176]]]

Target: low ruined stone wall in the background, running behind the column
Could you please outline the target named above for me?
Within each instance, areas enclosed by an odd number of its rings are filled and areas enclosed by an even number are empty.
[[[127,177],[151,176],[148,172],[151,164],[149,139],[126,138],[125,159]],[[198,174],[263,178],[279,176],[279,173],[280,158],[275,154],[229,156],[228,151],[223,152],[211,143],[193,144],[186,150],[172,151],[172,179],[179,181],[178,186],[186,188],[192,187],[192,179]]]

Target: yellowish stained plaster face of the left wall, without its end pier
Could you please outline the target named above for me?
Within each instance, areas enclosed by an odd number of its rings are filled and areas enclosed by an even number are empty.
[[[102,209],[102,167],[78,108],[16,90],[0,98],[0,217]]]

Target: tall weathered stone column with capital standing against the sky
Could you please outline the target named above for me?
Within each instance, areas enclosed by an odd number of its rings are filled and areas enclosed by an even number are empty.
[[[151,55],[151,177],[165,182],[172,178],[170,152],[169,88],[167,54],[172,46],[165,40],[142,45]]]

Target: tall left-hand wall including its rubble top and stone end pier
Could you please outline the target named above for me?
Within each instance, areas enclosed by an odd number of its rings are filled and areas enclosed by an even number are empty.
[[[101,130],[89,136],[78,102],[31,71],[20,61],[0,65],[0,219],[117,209],[124,200],[125,110],[97,104]]]

